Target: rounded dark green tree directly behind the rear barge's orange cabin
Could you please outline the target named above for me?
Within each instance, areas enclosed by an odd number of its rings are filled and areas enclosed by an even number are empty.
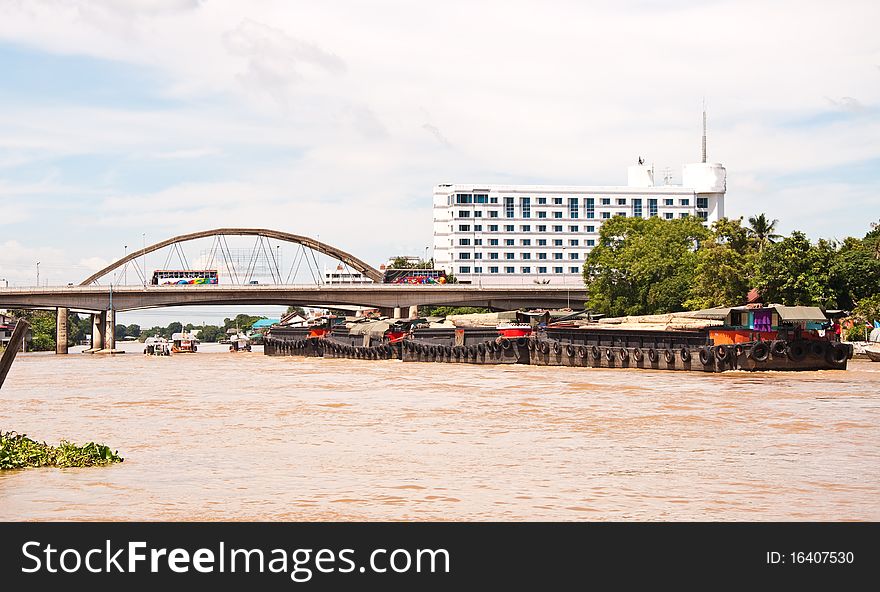
[[[835,306],[835,246],[810,243],[800,231],[768,245],[758,256],[756,286],[765,301],[789,306]]]

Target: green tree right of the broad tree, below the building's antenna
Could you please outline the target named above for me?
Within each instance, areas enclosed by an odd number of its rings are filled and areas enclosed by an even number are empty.
[[[712,225],[709,240],[697,250],[689,309],[735,306],[746,301],[753,286],[757,253],[742,218],[722,218]]]

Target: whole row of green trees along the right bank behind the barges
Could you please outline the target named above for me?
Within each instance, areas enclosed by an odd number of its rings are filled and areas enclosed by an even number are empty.
[[[660,314],[733,306],[756,290],[764,303],[821,306],[880,320],[880,224],[862,238],[816,242],[776,234],[764,214],[722,218],[615,217],[587,256],[584,280],[594,312]]]

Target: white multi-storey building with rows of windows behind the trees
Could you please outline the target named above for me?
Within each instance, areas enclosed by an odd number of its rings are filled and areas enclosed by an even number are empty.
[[[582,285],[599,227],[614,216],[724,216],[727,171],[686,164],[682,185],[629,167],[626,186],[443,184],[434,187],[435,267],[473,284]]]

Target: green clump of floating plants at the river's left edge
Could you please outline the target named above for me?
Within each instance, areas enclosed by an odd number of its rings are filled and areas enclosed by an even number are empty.
[[[31,440],[25,434],[0,430],[0,470],[28,467],[97,467],[122,462],[119,451],[89,442],[77,446],[62,440],[58,446]]]

